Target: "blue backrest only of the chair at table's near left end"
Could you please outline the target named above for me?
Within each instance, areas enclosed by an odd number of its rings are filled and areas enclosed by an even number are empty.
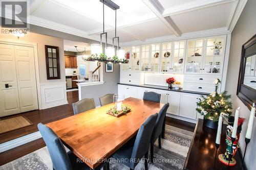
[[[72,169],[68,154],[58,136],[49,127],[41,123],[39,123],[37,127],[47,145],[53,168],[56,170]]]

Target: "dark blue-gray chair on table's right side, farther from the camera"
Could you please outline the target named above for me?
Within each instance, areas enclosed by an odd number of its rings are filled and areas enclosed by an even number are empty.
[[[160,109],[159,113],[158,113],[158,117],[157,117],[157,121],[151,136],[151,140],[150,140],[150,157],[151,157],[151,162],[153,163],[153,158],[154,158],[154,143],[158,138],[158,147],[159,149],[161,149],[161,134],[164,133],[163,132],[163,126],[164,125],[164,119],[165,119],[165,115],[166,115],[166,111],[169,107],[169,103],[166,103],[163,105],[163,107]]]

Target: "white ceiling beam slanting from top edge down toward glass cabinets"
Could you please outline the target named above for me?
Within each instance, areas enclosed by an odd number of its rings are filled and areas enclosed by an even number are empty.
[[[177,37],[181,35],[180,29],[176,26],[171,17],[164,17],[164,8],[158,0],[142,0],[144,4],[164,23],[164,25],[172,31]]]

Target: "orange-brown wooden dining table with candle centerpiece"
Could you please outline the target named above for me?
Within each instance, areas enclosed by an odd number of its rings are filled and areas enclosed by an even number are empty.
[[[135,136],[145,120],[158,113],[163,106],[161,103],[135,98],[127,98],[123,104],[130,105],[131,111],[119,117],[106,114],[114,107],[112,103],[57,120],[47,126],[78,158],[94,169]]]

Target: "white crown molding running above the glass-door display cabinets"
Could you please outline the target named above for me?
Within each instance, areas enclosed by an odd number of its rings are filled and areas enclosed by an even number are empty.
[[[224,27],[224,28],[210,29],[210,30],[204,30],[204,31],[183,33],[180,37],[176,37],[175,35],[170,35],[170,36],[163,36],[163,37],[156,37],[156,38],[148,38],[145,41],[121,42],[120,46],[124,47],[124,46],[132,46],[132,45],[157,43],[157,42],[176,41],[176,40],[184,40],[184,39],[190,39],[190,38],[225,35],[225,34],[230,34],[230,33],[231,32],[228,31],[227,28]]]

